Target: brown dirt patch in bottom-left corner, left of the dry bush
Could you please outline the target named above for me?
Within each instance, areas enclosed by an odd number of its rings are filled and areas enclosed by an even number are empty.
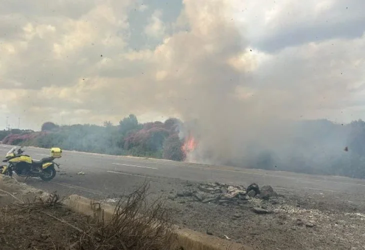
[[[86,217],[63,207],[28,209],[16,205],[0,209],[1,249],[67,249],[66,246],[72,245],[82,235],[51,216],[62,218],[78,228],[88,226]]]

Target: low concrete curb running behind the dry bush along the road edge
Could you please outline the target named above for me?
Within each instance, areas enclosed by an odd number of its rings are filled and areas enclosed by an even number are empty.
[[[70,195],[64,204],[75,212],[84,215],[96,216],[98,219],[108,221],[114,213],[114,206],[109,204],[100,204],[99,202],[79,196]],[[174,246],[181,247],[183,250],[253,250],[250,246],[244,246],[225,239],[200,233],[188,228],[175,226],[176,237]]]

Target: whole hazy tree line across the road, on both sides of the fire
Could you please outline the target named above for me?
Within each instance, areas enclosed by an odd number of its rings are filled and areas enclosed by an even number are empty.
[[[110,121],[104,121],[103,125],[45,122],[40,131],[3,130],[0,131],[0,140],[11,145],[57,146],[66,150],[181,161],[186,156],[182,150],[184,138],[178,136],[181,125],[176,118],[140,123],[134,114],[130,114],[116,125]],[[250,145],[255,152],[250,158],[227,164],[365,178],[363,120],[348,124],[328,120],[303,121],[298,123],[295,131],[290,138],[283,135],[277,146],[279,149]],[[285,144],[285,140],[289,142]]]

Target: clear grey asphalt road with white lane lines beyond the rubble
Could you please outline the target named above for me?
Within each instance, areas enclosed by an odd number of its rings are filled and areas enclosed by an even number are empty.
[[[11,148],[0,145],[0,154]],[[25,147],[25,153],[34,159],[49,156],[49,149]],[[115,155],[93,154],[76,151],[62,153],[61,172],[54,180],[44,182],[31,180],[29,183],[46,190],[65,189],[68,192],[83,194],[120,193],[126,186],[133,187],[145,178],[154,182],[171,181],[219,181],[244,186],[255,182],[259,185],[271,185],[276,189],[307,190],[313,193],[346,192],[362,194],[365,181],[338,176],[309,175],[283,171],[245,169],[230,166],[216,166],[169,160],[137,158]],[[78,172],[85,174],[77,174]],[[89,195],[88,195],[89,196]]]

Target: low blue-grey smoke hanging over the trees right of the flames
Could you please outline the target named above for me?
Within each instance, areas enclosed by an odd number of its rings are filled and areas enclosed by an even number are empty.
[[[357,123],[360,129],[356,131]],[[190,146],[186,160],[247,168],[343,174],[342,170],[345,172],[355,167],[356,161],[361,164],[358,160],[363,142],[357,143],[354,138],[362,136],[364,125],[362,121],[346,125],[328,120],[287,122],[281,129],[267,126],[268,131],[261,134],[250,134],[249,131],[246,136],[237,134],[229,143],[219,137],[220,131],[217,131],[212,139],[187,137],[185,144],[193,146]],[[353,151],[344,150],[348,144]],[[223,150],[220,151],[220,148]]]

